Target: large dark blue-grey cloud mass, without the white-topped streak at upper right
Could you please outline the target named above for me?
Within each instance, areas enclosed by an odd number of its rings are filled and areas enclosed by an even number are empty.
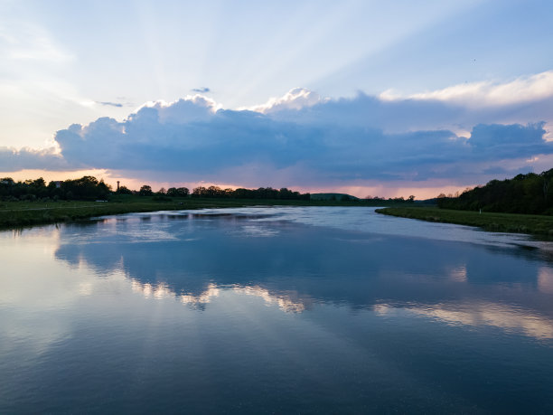
[[[73,125],[56,141],[68,162],[78,165],[179,172],[191,180],[230,176],[250,184],[275,174],[296,176],[300,184],[473,178],[505,159],[553,153],[542,123],[479,124],[470,137],[446,129],[387,133],[361,118],[374,100],[325,101],[309,108],[309,117],[305,108],[295,109],[304,115],[300,122],[283,117],[285,110],[271,117],[217,109],[196,96],[150,103],[124,122],[98,118]]]

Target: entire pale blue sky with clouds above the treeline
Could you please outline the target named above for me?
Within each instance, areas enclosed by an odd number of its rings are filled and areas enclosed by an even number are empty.
[[[548,1],[0,0],[0,176],[455,193],[553,167]]]

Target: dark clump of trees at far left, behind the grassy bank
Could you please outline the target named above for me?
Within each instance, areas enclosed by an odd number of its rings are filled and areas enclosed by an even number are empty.
[[[105,200],[110,193],[108,184],[90,175],[48,185],[42,177],[24,182],[15,182],[11,177],[0,179],[0,198],[5,201]]]

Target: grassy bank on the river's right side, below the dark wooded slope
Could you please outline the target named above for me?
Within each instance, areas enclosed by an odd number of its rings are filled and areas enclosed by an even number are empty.
[[[553,216],[454,211],[437,207],[389,207],[376,212],[428,222],[477,226],[484,231],[529,233],[553,237]]]

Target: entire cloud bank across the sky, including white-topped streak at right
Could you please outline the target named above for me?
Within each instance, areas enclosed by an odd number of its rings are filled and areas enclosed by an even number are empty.
[[[328,99],[296,88],[252,108],[202,95],[150,102],[55,135],[59,152],[0,148],[5,171],[107,169],[245,186],[484,183],[553,155],[553,71],[410,96]]]

